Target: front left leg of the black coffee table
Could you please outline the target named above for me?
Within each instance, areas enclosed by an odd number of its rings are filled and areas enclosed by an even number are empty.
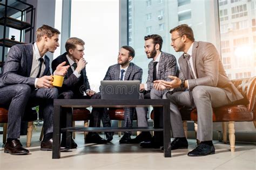
[[[52,159],[60,158],[60,112],[62,108],[59,105],[53,107],[53,146]]]

